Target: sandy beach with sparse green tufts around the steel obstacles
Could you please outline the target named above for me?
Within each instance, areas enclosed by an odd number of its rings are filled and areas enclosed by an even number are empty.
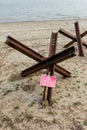
[[[22,70],[37,62],[5,44],[12,36],[43,56],[48,56],[51,33],[60,28],[75,34],[77,20],[0,23],[0,130],[87,130],[87,48],[58,65],[70,71],[64,78],[55,73],[53,106],[40,104],[43,87],[40,76],[44,70],[25,78]],[[87,30],[87,20],[78,20],[80,32]],[[87,41],[87,35],[83,38]],[[58,33],[56,53],[64,50],[71,39]]]

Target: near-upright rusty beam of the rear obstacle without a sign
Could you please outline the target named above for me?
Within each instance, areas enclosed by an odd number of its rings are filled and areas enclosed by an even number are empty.
[[[79,56],[84,56],[78,22],[75,22],[75,31],[76,31],[76,37],[77,37],[77,43],[78,43],[78,49],[79,49]]]

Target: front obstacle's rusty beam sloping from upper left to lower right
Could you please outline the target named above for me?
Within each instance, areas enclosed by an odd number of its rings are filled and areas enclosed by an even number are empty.
[[[12,38],[11,36],[7,37],[7,40],[5,43],[8,44],[9,46],[13,47],[14,49],[18,50],[19,52],[25,54],[26,56],[33,58],[34,60],[36,60],[38,62],[41,62],[42,60],[46,59],[42,55],[38,54],[37,52],[30,49],[29,47],[23,45],[21,42],[17,41],[16,39]],[[62,67],[60,67],[58,65],[55,65],[55,70],[57,73],[59,73],[63,76],[66,76],[66,77],[71,76],[71,73],[69,71],[63,69]]]

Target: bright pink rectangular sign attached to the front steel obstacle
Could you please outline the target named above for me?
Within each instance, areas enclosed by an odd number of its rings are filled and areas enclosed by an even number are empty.
[[[40,78],[40,85],[54,88],[56,85],[56,78],[54,76],[42,75]]]

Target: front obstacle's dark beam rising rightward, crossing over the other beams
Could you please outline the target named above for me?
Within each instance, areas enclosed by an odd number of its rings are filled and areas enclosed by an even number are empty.
[[[56,63],[59,63],[59,62],[62,62],[70,57],[73,57],[75,56],[75,48],[74,47],[70,47],[52,57],[49,57],[47,58],[46,60],[44,61],[41,61],[40,63],[22,71],[21,75],[23,77],[29,75],[29,74],[32,74],[34,72],[37,72],[41,69],[44,69],[44,68],[47,68],[47,67],[50,67],[52,64],[56,64]]]

